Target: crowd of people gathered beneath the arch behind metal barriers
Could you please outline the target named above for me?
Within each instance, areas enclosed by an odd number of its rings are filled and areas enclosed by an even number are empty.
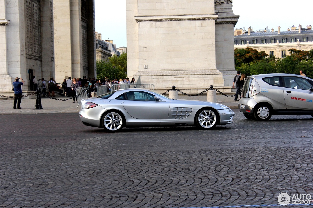
[[[129,80],[128,77],[126,78],[121,78],[119,79],[112,79],[110,80],[108,77],[105,77],[103,81],[101,80],[97,80],[95,77],[91,78],[87,78],[86,76],[83,78],[75,78],[73,77],[73,79],[71,79],[71,77],[69,77],[68,79],[64,79],[62,84],[59,85],[59,83],[55,82],[54,78],[50,78],[50,81],[47,82],[44,80],[44,78],[41,79],[42,80],[42,86],[37,86],[37,79],[35,76],[33,76],[33,89],[37,89],[37,87],[42,87],[42,94],[43,97],[46,97],[46,89],[48,87],[48,96],[55,97],[55,93],[54,92],[58,92],[58,93],[62,93],[64,96],[66,97],[73,97],[73,102],[75,102],[75,96],[76,96],[76,88],[77,87],[91,87],[91,92],[94,91],[94,87],[97,86],[106,86],[107,87],[107,92],[111,91],[111,87],[114,84],[131,84],[134,83],[136,84],[135,78],[133,77],[131,80]]]

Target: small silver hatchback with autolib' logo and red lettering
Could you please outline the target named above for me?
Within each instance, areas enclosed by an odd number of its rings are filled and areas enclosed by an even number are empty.
[[[272,115],[313,116],[313,79],[295,74],[247,77],[238,107],[248,119],[267,121]]]

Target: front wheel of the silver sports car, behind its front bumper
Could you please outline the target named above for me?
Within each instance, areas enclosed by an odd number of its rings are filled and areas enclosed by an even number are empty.
[[[213,129],[219,123],[219,114],[213,108],[200,109],[195,117],[195,125],[202,130]]]

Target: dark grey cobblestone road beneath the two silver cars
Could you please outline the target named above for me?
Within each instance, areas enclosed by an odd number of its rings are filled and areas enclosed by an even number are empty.
[[[234,111],[214,130],[120,133],[77,113],[0,115],[0,207],[275,207],[283,191],[313,195],[313,118]]]

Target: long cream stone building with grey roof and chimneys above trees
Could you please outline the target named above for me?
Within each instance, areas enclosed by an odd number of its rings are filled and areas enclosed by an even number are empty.
[[[251,47],[257,51],[263,51],[268,55],[278,58],[283,58],[289,55],[289,49],[295,48],[300,51],[310,51],[313,49],[313,31],[308,25],[303,28],[298,27],[288,28],[287,31],[274,29],[254,32],[249,27],[248,31],[236,29],[234,34],[234,48]],[[239,34],[239,35],[237,35]]]

